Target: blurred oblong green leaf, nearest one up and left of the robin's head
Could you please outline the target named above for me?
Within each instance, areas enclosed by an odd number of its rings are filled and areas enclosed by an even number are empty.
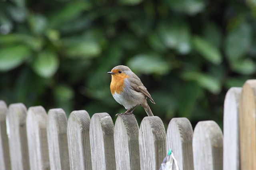
[[[101,48],[95,41],[80,41],[66,49],[67,57],[96,57],[100,54]]]

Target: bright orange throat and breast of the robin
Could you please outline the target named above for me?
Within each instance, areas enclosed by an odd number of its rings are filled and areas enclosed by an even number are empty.
[[[126,74],[113,74],[110,83],[110,91],[113,95],[114,93],[120,94],[124,91],[124,79],[129,78]]]

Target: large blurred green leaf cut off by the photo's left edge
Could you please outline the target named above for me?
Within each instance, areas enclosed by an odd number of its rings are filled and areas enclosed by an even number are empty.
[[[0,71],[9,71],[22,64],[30,56],[25,45],[16,45],[0,49]]]

